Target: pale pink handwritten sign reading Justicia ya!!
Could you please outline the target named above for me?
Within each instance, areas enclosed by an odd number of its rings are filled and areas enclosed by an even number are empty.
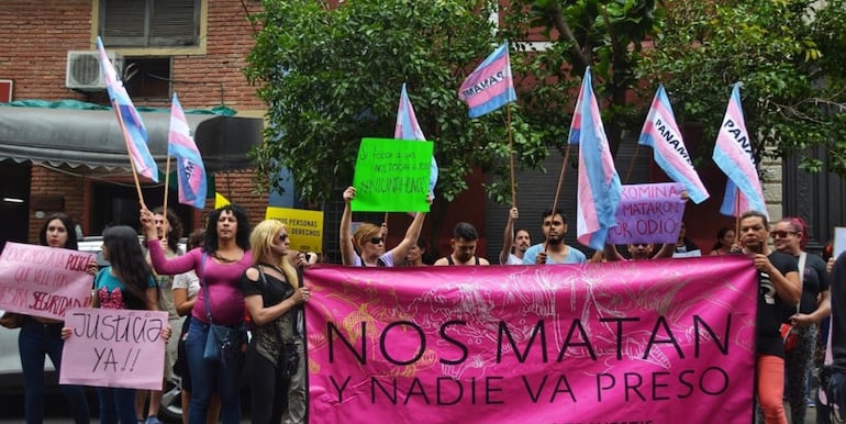
[[[167,312],[79,308],[65,325],[59,383],[162,390]]]

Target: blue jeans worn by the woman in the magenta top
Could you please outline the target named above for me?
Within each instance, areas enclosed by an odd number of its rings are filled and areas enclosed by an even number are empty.
[[[244,355],[237,349],[235,358],[208,360],[203,358],[209,324],[191,319],[185,349],[188,355],[188,370],[191,373],[191,408],[188,415],[190,424],[205,424],[209,402],[212,393],[221,398],[221,421],[223,424],[241,423],[241,368]]]

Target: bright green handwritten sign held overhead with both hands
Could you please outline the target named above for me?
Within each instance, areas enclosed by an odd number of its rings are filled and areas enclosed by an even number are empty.
[[[353,187],[356,212],[428,212],[432,142],[363,138]]]

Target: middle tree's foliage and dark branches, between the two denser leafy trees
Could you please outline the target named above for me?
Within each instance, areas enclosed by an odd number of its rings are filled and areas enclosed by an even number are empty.
[[[553,43],[515,64],[515,74],[536,83],[521,97],[521,103],[532,109],[532,123],[554,123],[566,132],[578,93],[575,87],[590,66],[615,154],[624,130],[636,134],[643,125],[631,90],[638,85],[644,42],[657,32],[661,12],[654,0],[510,1],[502,13],[504,36],[536,40],[539,35]]]

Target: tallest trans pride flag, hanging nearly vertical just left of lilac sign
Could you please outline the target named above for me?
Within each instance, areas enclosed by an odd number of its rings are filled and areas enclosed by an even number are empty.
[[[616,208],[622,186],[611,157],[591,80],[590,68],[587,68],[576,102],[569,143],[579,145],[576,236],[579,243],[602,249],[609,228],[616,226]]]

